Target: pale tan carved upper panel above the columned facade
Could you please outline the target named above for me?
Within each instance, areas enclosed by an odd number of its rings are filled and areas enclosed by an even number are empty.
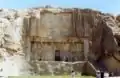
[[[41,14],[40,20],[31,17],[30,21],[30,36],[45,37],[54,41],[60,40],[61,38],[64,38],[64,36],[68,36],[71,33],[71,20],[69,14],[54,15],[53,13],[45,13]]]

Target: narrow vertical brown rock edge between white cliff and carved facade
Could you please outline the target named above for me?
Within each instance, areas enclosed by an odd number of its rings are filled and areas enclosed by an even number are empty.
[[[23,46],[25,52],[25,58],[27,61],[30,61],[31,53],[31,41],[30,41],[30,17],[25,17],[23,21]]]

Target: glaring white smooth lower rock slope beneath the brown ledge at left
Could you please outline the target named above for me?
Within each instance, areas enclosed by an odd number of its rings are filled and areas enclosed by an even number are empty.
[[[23,54],[8,54],[5,49],[1,52],[2,59],[0,63],[0,75],[1,76],[20,76],[20,75],[31,75],[32,69],[29,63],[25,60]]]

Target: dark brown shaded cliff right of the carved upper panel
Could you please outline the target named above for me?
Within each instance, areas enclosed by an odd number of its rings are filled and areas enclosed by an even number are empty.
[[[75,37],[85,37],[92,42],[91,52],[95,54],[94,60],[117,52],[113,35],[119,34],[120,30],[113,16],[88,9],[75,9],[72,22]]]

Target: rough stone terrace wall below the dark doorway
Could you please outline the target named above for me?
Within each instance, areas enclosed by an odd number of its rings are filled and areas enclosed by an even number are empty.
[[[54,61],[38,61],[33,62],[32,65],[36,65],[34,70],[37,75],[70,75],[72,70],[75,70],[77,74],[81,74],[83,71],[84,62],[54,62]]]

